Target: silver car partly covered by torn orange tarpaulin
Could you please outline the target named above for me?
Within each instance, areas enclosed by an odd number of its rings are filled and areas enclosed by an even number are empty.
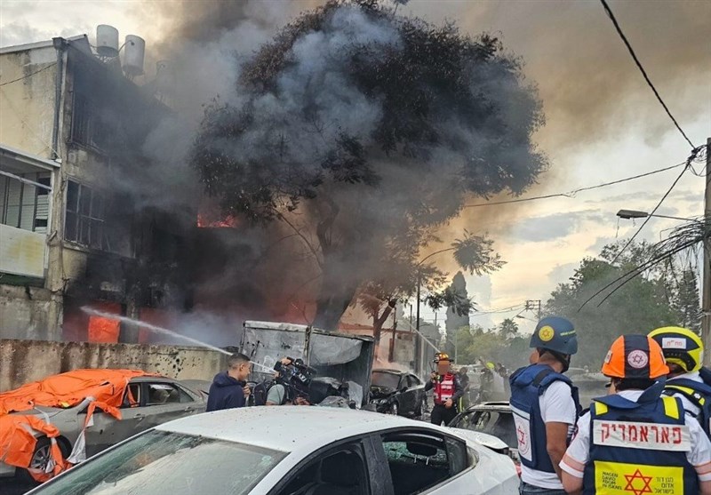
[[[204,412],[206,400],[184,382],[134,370],[68,371],[4,392],[0,476],[43,483],[132,435]]]

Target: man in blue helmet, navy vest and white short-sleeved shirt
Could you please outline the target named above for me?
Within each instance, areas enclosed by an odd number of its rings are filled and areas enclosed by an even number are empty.
[[[573,324],[558,316],[543,318],[531,336],[534,363],[515,371],[511,384],[521,495],[564,495],[558,463],[570,443],[579,415],[578,389],[563,375],[578,352]]]

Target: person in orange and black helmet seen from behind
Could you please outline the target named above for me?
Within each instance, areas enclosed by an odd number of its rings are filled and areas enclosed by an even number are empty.
[[[654,339],[614,341],[603,363],[611,395],[579,419],[560,464],[566,491],[711,494],[711,442],[680,399],[662,395],[668,372]]]

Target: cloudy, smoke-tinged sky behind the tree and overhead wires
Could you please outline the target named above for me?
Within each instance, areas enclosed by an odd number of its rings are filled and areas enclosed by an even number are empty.
[[[260,9],[283,24],[314,1],[265,0]],[[212,2],[214,4],[214,2]],[[662,98],[695,145],[711,136],[711,3],[694,1],[611,1],[619,23]],[[179,9],[173,6],[179,5]],[[2,0],[0,45],[23,44],[52,36],[88,34],[107,23],[121,36],[147,40],[147,51],[171,43],[180,15],[203,15],[208,4],[139,1]],[[563,193],[682,163],[690,146],[655,100],[595,1],[411,0],[399,13],[435,23],[454,21],[473,35],[489,32],[523,60],[527,82],[536,84],[547,125],[535,136],[550,170],[522,197]],[[176,13],[177,12],[177,13]],[[264,16],[262,12],[260,15]],[[148,76],[151,72],[147,68]],[[2,75],[0,75],[0,79]],[[482,312],[546,300],[567,282],[581,259],[605,244],[631,236],[637,227],[618,220],[622,208],[650,211],[680,169],[571,197],[522,204],[469,208],[443,228],[445,243],[462,228],[488,232],[507,264],[498,272],[467,275],[469,294]],[[659,213],[678,217],[703,212],[704,181],[687,173]],[[492,201],[507,197],[492,198]],[[470,204],[481,204],[473,199]],[[651,220],[641,238],[658,241],[676,220]],[[450,270],[451,259],[437,263]],[[515,315],[475,315],[489,326]],[[426,319],[434,319],[424,311]],[[532,314],[524,314],[533,318]],[[443,315],[438,315],[440,321]],[[531,330],[531,320],[518,320]]]

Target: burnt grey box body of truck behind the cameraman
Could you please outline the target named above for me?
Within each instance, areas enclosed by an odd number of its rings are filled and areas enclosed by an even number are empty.
[[[293,323],[245,321],[239,352],[250,357],[252,382],[273,379],[284,357],[300,360],[314,403],[340,396],[360,409],[369,401],[375,344],[372,337]]]

